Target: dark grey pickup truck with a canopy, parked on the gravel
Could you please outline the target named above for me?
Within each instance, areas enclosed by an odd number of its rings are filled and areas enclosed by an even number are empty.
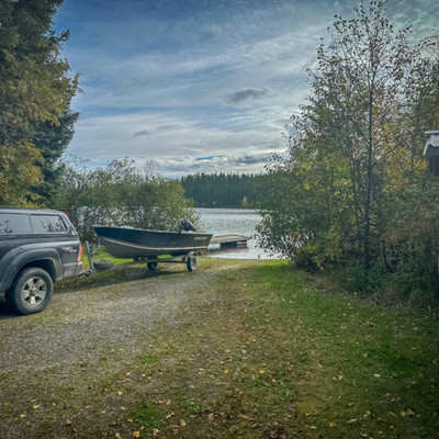
[[[0,293],[19,314],[43,311],[54,282],[78,275],[82,247],[58,211],[0,207]]]

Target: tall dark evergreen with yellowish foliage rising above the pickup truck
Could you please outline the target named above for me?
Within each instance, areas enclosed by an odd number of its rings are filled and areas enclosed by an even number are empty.
[[[59,58],[68,31],[52,26],[61,3],[0,0],[0,204],[46,204],[71,137],[78,78]]]

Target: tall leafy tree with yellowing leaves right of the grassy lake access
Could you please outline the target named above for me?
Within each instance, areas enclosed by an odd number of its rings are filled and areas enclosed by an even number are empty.
[[[409,230],[418,212],[438,211],[423,134],[439,126],[439,40],[396,31],[385,5],[361,2],[356,18],[336,16],[308,71],[309,101],[288,126],[288,157],[271,170],[279,185],[262,239],[307,266],[392,273],[418,252],[437,266],[436,222]]]

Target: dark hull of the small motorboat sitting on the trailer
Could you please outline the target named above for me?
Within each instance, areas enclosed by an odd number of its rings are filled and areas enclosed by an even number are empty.
[[[205,250],[212,235],[192,232],[161,232],[142,228],[93,226],[101,244],[119,259],[180,256]]]

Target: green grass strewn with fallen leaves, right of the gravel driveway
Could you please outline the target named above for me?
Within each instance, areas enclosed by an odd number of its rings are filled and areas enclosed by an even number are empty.
[[[76,282],[130,282],[124,270]],[[87,394],[58,395],[76,414],[57,437],[439,438],[437,319],[326,294],[285,261],[203,259],[184,275],[212,290],[130,356],[112,349]]]

